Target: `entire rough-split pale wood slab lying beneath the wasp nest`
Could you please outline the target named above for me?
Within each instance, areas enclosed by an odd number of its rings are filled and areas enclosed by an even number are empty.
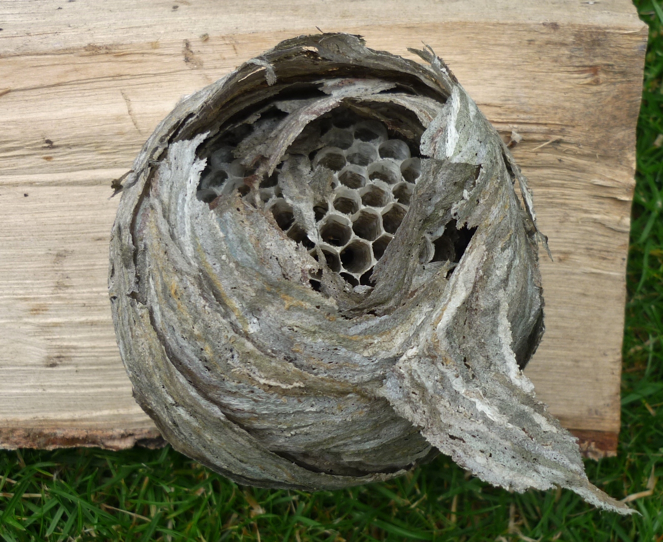
[[[288,1],[276,15],[266,1],[3,3],[5,447],[117,448],[156,437],[131,398],[111,326],[109,186],[180,96],[317,25],[403,56],[406,45],[430,44],[505,139],[522,135],[512,152],[555,258],[541,261],[546,335],[527,374],[563,425],[585,431],[595,450],[614,450],[601,435],[619,431],[646,27],[626,0],[408,5]]]

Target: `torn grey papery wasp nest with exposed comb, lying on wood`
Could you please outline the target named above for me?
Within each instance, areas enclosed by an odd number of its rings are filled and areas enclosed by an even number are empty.
[[[301,36],[162,121],[111,239],[134,396],[243,484],[343,488],[442,452],[495,485],[631,512],[522,373],[543,333],[526,180],[418,54]]]

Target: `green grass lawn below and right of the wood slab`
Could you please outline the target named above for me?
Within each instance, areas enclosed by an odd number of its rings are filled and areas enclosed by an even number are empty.
[[[650,25],[638,123],[628,267],[619,455],[587,461],[589,478],[623,498],[663,475],[663,11]],[[663,137],[662,137],[663,139]],[[655,143],[656,142],[656,143]],[[569,491],[511,494],[465,476],[450,459],[384,484],[304,492],[237,486],[165,448],[0,452],[5,541],[663,541],[663,491],[601,513]],[[13,496],[11,496],[13,495]]]

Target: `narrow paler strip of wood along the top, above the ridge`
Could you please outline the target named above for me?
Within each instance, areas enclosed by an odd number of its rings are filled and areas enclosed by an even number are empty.
[[[426,23],[533,23],[550,27],[579,23],[598,28],[642,31],[627,0],[3,0],[0,50],[3,54],[52,52],[63,48],[149,43],[161,38],[182,40],[209,34],[241,46],[245,34],[280,30],[292,35],[349,28]],[[322,26],[321,26],[322,25]],[[412,29],[417,42],[428,38]]]

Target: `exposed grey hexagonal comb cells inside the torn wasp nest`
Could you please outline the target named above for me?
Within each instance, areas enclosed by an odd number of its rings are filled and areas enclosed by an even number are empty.
[[[211,203],[219,196],[239,191],[249,201],[251,187],[247,179],[255,169],[245,165],[241,149],[249,146],[252,137],[260,140],[262,134],[271,133],[283,118],[278,114],[263,117],[253,125],[244,124],[231,131],[208,151],[198,199]],[[313,148],[308,153],[311,171],[326,168],[333,174],[328,195],[313,205],[316,232],[306,231],[296,220],[295,209],[282,194],[281,172],[292,159],[290,152],[271,176],[261,180],[260,199],[290,239],[305,246],[316,260],[322,254],[331,271],[357,292],[365,292],[373,286],[375,264],[408,211],[421,172],[421,160],[413,156],[418,142],[408,144],[390,136],[385,124],[363,119],[343,107],[314,123],[318,126],[310,132],[315,136],[306,142],[307,150]],[[301,146],[301,141],[294,144]],[[320,287],[315,275],[310,284],[316,290]]]

